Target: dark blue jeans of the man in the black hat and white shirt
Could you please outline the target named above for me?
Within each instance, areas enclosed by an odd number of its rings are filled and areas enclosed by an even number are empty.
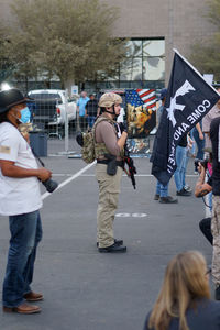
[[[18,307],[31,292],[36,246],[42,239],[38,211],[9,217],[11,240],[2,300],[6,307]]]

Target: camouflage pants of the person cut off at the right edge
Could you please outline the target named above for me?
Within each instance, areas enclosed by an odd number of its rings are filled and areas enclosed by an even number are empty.
[[[220,285],[220,196],[212,195],[211,232],[213,235],[212,278]]]

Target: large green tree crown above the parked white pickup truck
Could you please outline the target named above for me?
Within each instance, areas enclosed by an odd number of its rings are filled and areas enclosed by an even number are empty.
[[[16,77],[56,75],[64,86],[114,74],[125,56],[125,41],[111,35],[118,9],[99,0],[14,0],[12,13],[7,54]]]

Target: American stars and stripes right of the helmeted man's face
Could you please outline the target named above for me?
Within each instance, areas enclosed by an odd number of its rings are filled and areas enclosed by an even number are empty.
[[[127,89],[127,103],[134,107],[143,106],[143,108],[156,110],[156,94],[154,89]]]

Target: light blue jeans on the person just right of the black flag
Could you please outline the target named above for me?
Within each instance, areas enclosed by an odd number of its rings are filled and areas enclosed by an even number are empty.
[[[177,168],[174,173],[174,179],[176,184],[177,191],[180,191],[184,188],[185,180],[185,168],[186,168],[186,146],[177,145],[176,147],[176,165]]]

